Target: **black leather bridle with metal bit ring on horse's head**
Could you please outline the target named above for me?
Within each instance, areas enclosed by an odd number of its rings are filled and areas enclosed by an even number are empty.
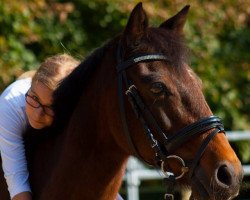
[[[150,61],[164,61],[168,60],[166,56],[159,53],[146,53],[146,54],[140,54],[133,57],[130,57],[127,60],[123,60],[123,49],[121,45],[118,45],[117,47],[117,72],[118,72],[118,98],[119,98],[119,106],[120,106],[120,112],[121,112],[121,119],[122,119],[122,125],[123,130],[126,134],[126,137],[128,139],[128,142],[130,143],[131,148],[133,149],[135,155],[140,158],[141,160],[145,161],[142,156],[140,155],[136,145],[134,144],[131,134],[128,129],[127,120],[126,120],[126,113],[125,113],[125,106],[124,106],[124,89],[125,94],[128,96],[128,100],[132,105],[132,108],[136,114],[136,117],[140,120],[142,127],[144,129],[144,132],[147,135],[147,138],[151,144],[152,149],[155,152],[156,161],[158,166],[161,167],[161,170],[166,175],[166,179],[168,179],[168,182],[173,182],[176,179],[181,178],[185,173],[189,172],[189,177],[191,178],[194,174],[194,170],[197,167],[208,143],[213,139],[213,137],[219,133],[224,132],[223,124],[220,120],[220,118],[216,116],[209,116],[203,119],[200,119],[180,131],[178,131],[175,134],[172,134],[171,136],[167,137],[164,131],[161,129],[161,127],[158,125],[157,121],[155,120],[154,116],[150,112],[150,110],[147,108],[147,106],[144,104],[142,98],[139,95],[139,92],[136,88],[136,86],[132,83],[131,80],[127,78],[126,75],[126,69],[134,64],[140,63],[140,62],[150,62]],[[123,85],[125,83],[125,86]],[[154,137],[153,132],[151,131],[148,123],[151,125],[151,127],[154,127],[154,129],[157,132],[157,136],[160,138],[161,143],[160,144]],[[210,131],[210,134],[205,138],[203,143],[201,144],[200,148],[198,149],[194,160],[190,164],[190,166],[186,166],[184,160],[177,156],[177,155],[171,155],[174,150],[176,150],[179,146],[181,146],[183,143],[187,142],[191,138],[193,138],[196,135],[202,134],[204,132]],[[182,165],[182,173],[179,176],[168,175],[165,171],[165,164],[167,164],[167,161],[169,159],[177,159],[181,165]],[[169,181],[170,180],[170,181]],[[172,194],[166,194],[166,199],[173,199]]]

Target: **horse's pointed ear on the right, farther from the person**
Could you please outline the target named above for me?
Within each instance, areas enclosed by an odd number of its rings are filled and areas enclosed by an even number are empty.
[[[188,13],[189,7],[190,7],[189,5],[186,5],[176,15],[166,20],[165,22],[163,22],[160,25],[160,28],[165,28],[165,29],[173,31],[174,33],[178,35],[182,35],[183,27],[187,19],[187,13]]]

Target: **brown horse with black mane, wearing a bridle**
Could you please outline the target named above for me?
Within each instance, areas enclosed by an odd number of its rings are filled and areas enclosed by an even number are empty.
[[[238,194],[241,163],[187,64],[188,9],[153,28],[139,3],[124,32],[62,82],[55,126],[27,134],[34,199],[114,200],[130,155],[172,172],[167,182],[190,186],[194,199]]]

